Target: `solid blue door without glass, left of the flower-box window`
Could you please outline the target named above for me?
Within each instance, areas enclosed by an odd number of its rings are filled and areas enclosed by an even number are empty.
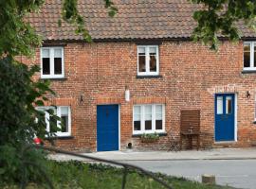
[[[119,150],[119,105],[97,106],[97,151]]]

